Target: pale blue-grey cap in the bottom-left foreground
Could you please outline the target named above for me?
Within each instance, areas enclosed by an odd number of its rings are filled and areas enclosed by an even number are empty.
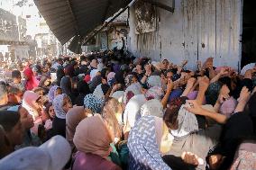
[[[0,160],[0,169],[61,170],[69,161],[70,155],[71,150],[67,140],[55,136],[38,148],[22,148],[4,157]]]

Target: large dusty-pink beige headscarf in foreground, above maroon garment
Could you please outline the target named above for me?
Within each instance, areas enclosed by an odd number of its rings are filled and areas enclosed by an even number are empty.
[[[106,158],[110,154],[113,139],[100,115],[96,114],[78,124],[73,142],[78,151]]]

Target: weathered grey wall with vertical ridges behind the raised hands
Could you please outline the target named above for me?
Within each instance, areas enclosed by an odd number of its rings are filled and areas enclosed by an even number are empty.
[[[159,0],[172,5],[171,0]],[[130,9],[129,50],[136,57],[169,58],[174,64],[215,58],[215,66],[240,66],[241,0],[176,0],[175,12],[157,8],[158,31],[136,35],[134,8]]]

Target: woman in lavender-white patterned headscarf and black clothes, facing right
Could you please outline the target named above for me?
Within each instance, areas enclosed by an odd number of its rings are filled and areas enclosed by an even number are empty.
[[[59,94],[52,104],[56,115],[52,121],[53,133],[66,138],[66,114],[72,108],[71,100],[67,94]]]

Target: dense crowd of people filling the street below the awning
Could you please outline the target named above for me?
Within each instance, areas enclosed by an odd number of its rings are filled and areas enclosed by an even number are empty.
[[[0,169],[256,169],[255,64],[187,62],[114,50],[15,64]]]

